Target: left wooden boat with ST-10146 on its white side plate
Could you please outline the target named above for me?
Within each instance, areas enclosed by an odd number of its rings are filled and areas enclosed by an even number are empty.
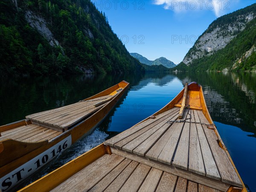
[[[1,126],[0,189],[11,189],[82,136],[90,134],[128,86],[128,82],[121,81],[80,102]]]

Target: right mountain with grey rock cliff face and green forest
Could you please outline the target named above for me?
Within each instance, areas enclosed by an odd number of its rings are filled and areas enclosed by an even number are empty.
[[[256,3],[213,21],[172,70],[256,70]]]

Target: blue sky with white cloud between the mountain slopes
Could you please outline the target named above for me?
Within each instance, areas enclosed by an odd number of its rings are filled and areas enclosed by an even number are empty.
[[[213,20],[256,0],[91,0],[129,52],[180,63]]]

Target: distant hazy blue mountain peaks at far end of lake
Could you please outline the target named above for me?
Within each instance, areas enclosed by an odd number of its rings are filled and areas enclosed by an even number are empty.
[[[142,64],[146,64],[146,65],[163,65],[164,67],[167,68],[172,68],[172,67],[176,67],[176,65],[172,62],[169,61],[168,59],[164,58],[164,57],[160,57],[157,58],[154,61],[150,61],[147,58],[143,57],[142,55],[134,52],[134,53],[130,53],[131,56],[137,58]]]

